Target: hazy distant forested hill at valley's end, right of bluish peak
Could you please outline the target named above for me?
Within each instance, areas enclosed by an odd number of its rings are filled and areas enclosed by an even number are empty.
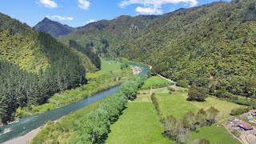
[[[98,53],[106,53],[104,47],[118,47],[127,39],[133,38],[150,23],[154,22],[156,16],[120,16],[113,20],[102,20],[92,22],[86,26],[79,27],[78,30],[58,38],[59,41],[68,43],[74,40],[82,45],[93,42],[93,50]],[[108,44],[106,44],[108,43]],[[110,53],[110,51],[109,51]]]

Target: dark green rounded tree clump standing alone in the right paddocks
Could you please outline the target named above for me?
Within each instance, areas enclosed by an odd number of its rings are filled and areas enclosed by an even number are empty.
[[[188,91],[188,101],[204,102],[207,98],[207,90],[204,87],[198,87],[195,84],[190,86]]]

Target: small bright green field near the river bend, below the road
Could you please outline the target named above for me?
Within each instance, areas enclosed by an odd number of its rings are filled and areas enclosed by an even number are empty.
[[[151,78],[148,78],[144,85],[142,86],[142,89],[150,89],[152,88],[158,88],[158,87],[164,87],[164,86],[170,86],[172,82],[167,81],[164,78],[160,78],[158,76],[153,76]]]

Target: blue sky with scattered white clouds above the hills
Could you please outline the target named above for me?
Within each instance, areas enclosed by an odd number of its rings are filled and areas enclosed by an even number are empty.
[[[158,15],[218,0],[1,0],[0,12],[35,26],[50,18],[68,26],[85,26],[120,15]],[[230,0],[223,0],[229,2]]]

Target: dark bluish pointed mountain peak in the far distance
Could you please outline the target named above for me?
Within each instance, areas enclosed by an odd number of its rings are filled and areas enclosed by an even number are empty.
[[[48,18],[44,18],[42,22],[38,22],[38,24],[34,26],[34,29],[50,34],[54,38],[58,38],[59,36],[70,34],[74,30],[76,30],[73,27],[62,25],[59,22],[51,21]]]

